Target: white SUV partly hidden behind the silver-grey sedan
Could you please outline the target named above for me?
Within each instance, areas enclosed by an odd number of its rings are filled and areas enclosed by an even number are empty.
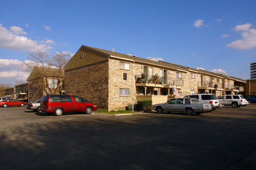
[[[191,95],[184,96],[184,98],[187,98],[187,97],[197,98],[199,102],[210,103],[212,110],[222,107],[216,95],[212,93],[198,93],[198,94],[191,94]]]

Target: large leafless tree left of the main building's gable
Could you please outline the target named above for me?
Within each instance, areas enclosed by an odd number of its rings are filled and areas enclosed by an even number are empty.
[[[23,71],[30,72],[28,80],[33,80],[32,87],[36,91],[43,87],[46,94],[59,92],[59,86],[64,78],[64,66],[68,62],[68,55],[57,52],[50,57],[50,54],[37,50],[28,53],[28,61],[21,65]]]

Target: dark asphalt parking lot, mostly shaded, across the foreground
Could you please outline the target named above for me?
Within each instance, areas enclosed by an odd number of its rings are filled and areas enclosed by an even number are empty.
[[[55,117],[0,108],[0,169],[255,170],[255,110]]]

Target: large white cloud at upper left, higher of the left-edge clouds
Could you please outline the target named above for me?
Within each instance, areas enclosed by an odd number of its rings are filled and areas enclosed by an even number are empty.
[[[31,40],[24,36],[18,36],[17,34],[19,33],[25,33],[20,27],[10,27],[10,30],[11,31],[0,24],[0,48],[19,51],[36,51],[37,49],[48,51],[48,49],[53,48],[46,44],[39,44],[36,40]]]

